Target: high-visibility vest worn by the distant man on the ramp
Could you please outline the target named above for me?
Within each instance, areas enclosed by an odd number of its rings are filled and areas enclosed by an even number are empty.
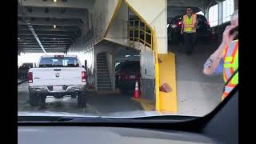
[[[192,14],[190,18],[187,16],[187,14],[183,15],[184,32],[194,33],[196,30],[196,26],[192,28],[192,27],[186,27],[186,25],[195,25],[195,22],[197,22],[196,14]]]

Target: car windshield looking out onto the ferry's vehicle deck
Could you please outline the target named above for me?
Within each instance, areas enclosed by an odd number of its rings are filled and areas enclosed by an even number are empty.
[[[238,84],[237,74],[225,87],[238,69],[238,39],[222,43],[234,2],[143,2],[18,1],[18,114],[180,118],[213,111]]]

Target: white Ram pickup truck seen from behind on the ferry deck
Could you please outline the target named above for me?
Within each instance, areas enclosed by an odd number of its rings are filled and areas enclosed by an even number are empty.
[[[78,106],[86,106],[86,69],[76,55],[44,55],[36,68],[28,72],[31,106],[45,106],[46,97],[78,98]]]

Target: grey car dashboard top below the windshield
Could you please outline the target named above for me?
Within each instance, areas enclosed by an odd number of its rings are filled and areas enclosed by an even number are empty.
[[[19,144],[217,143],[202,134],[101,126],[18,126]]]

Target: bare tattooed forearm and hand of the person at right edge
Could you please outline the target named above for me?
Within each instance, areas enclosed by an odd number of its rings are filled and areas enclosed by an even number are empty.
[[[230,35],[230,30],[233,30],[236,26],[226,26],[225,31],[223,32],[222,44],[218,46],[218,49],[214,51],[214,54],[210,55],[210,58],[207,59],[203,73],[210,75],[214,73],[214,70],[218,67],[218,64],[222,58],[223,50],[226,46],[230,45],[230,42],[238,33]]]

